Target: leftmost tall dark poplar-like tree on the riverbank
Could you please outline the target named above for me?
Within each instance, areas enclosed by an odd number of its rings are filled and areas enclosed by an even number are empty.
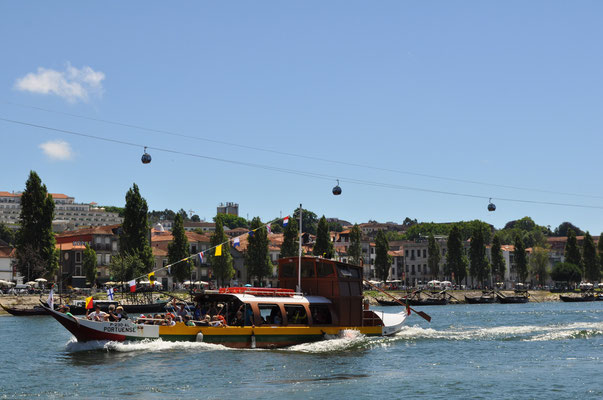
[[[59,267],[52,232],[54,200],[37,173],[31,171],[21,195],[20,228],[16,235],[15,266],[28,280],[51,277]]]

